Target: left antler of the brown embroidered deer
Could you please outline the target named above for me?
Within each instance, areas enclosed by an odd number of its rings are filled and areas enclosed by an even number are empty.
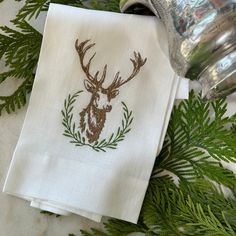
[[[88,42],[90,42],[90,39],[85,40],[85,41],[83,41],[79,44],[79,40],[77,39],[76,42],[75,42],[75,49],[78,52],[81,67],[82,67],[85,75],[87,76],[88,80],[93,84],[101,85],[104,82],[105,78],[106,78],[107,65],[105,65],[104,68],[103,68],[103,73],[102,73],[102,76],[101,76],[100,80],[98,80],[99,71],[97,71],[95,73],[95,75],[90,74],[90,72],[89,72],[90,65],[91,65],[91,62],[92,62],[93,58],[96,55],[96,52],[90,57],[88,63],[85,65],[84,64],[85,54],[87,53],[87,51],[89,49],[91,49],[95,45],[95,43],[88,44]]]

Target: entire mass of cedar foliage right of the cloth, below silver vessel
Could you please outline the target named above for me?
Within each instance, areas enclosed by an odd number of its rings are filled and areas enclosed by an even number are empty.
[[[235,162],[236,132],[231,127],[236,115],[226,117],[225,112],[224,99],[204,102],[192,91],[189,100],[174,107],[139,223],[110,219],[105,232],[82,230],[82,235],[236,235],[236,178],[220,161]],[[231,196],[224,196],[222,185],[231,189]]]

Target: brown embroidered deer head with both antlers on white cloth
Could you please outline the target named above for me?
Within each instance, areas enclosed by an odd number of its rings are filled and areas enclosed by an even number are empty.
[[[112,109],[111,100],[119,94],[119,88],[132,80],[140,71],[140,68],[146,63],[147,59],[142,59],[140,53],[134,52],[134,58],[130,58],[133,65],[131,74],[126,79],[122,79],[120,72],[114,76],[112,83],[107,87],[103,87],[106,79],[107,65],[104,66],[100,75],[100,71],[95,74],[90,73],[90,66],[96,53],[94,53],[88,60],[84,62],[85,55],[95,43],[89,44],[90,40],[85,40],[79,43],[78,39],[75,42],[75,48],[79,55],[81,68],[85,73],[86,79],[84,86],[86,90],[91,93],[90,101],[86,108],[80,112],[80,128],[82,132],[86,132],[86,136],[90,143],[99,139],[106,121],[106,113]]]

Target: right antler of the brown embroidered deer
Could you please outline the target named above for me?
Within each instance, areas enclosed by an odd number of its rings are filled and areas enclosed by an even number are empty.
[[[139,52],[134,52],[134,58],[130,58],[130,61],[133,64],[133,71],[131,75],[126,80],[122,80],[120,72],[117,72],[113,82],[107,88],[108,90],[117,89],[133,79],[139,73],[140,68],[146,63],[147,58],[143,59]]]

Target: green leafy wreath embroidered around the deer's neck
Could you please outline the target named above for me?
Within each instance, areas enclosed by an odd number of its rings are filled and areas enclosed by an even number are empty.
[[[64,101],[64,109],[61,111],[63,116],[62,125],[65,128],[63,135],[70,138],[70,143],[74,144],[77,147],[89,146],[97,152],[106,152],[107,149],[116,149],[118,143],[123,141],[125,135],[131,130],[130,127],[133,122],[132,111],[129,111],[126,104],[124,102],[121,102],[123,108],[123,119],[121,126],[118,127],[117,131],[113,132],[108,139],[89,143],[86,137],[81,134],[80,128],[73,121],[74,103],[77,97],[82,92],[83,91],[81,90],[74,93],[73,95],[69,94],[69,96]]]

